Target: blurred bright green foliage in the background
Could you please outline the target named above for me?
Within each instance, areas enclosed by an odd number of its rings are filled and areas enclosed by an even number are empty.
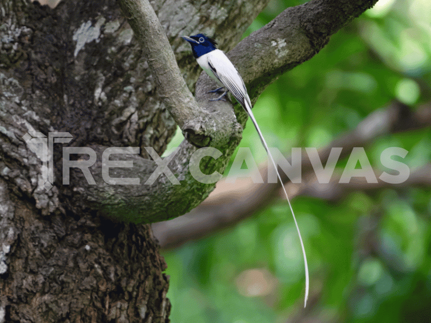
[[[297,4],[274,1],[247,33]],[[282,75],[254,107],[268,145],[286,155],[291,147],[323,147],[394,99],[412,109],[427,102],[430,13],[425,0],[380,0]],[[266,160],[252,124],[240,146]],[[398,160],[412,172],[430,162],[429,129],[373,140],[365,147],[373,168],[385,170],[380,153],[392,146],[409,151]],[[354,191],[337,202],[294,199],[311,273],[308,320],[431,321],[430,200],[428,187],[401,186]],[[301,315],[303,261],[283,200],[164,255],[173,322],[284,322]]]

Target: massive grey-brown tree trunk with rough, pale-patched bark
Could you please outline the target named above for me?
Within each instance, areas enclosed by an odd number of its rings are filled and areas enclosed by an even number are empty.
[[[168,322],[166,264],[149,225],[104,219],[72,199],[58,144],[54,182],[43,181],[24,137],[68,132],[69,146],[165,149],[176,126],[155,103],[130,27],[114,1],[0,9],[0,322]]]

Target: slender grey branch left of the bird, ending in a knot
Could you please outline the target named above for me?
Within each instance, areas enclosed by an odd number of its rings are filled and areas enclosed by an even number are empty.
[[[236,120],[208,113],[196,103],[150,3],[147,0],[119,0],[118,3],[147,57],[159,96],[186,138],[198,147],[226,145],[226,138],[236,135],[232,133]]]

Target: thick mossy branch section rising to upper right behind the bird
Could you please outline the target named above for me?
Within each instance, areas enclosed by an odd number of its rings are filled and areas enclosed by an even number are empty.
[[[244,38],[228,57],[242,75],[250,98],[256,99],[281,74],[316,55],[332,34],[376,2],[313,0],[284,10]]]

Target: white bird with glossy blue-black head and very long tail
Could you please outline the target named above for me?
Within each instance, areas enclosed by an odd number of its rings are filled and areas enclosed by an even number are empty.
[[[292,216],[296,225],[296,229],[298,232],[299,240],[301,242],[302,255],[304,258],[304,267],[305,267],[305,297],[304,297],[304,307],[307,305],[308,299],[308,291],[309,291],[309,274],[308,274],[308,264],[307,264],[307,256],[305,253],[304,243],[302,241],[301,231],[298,226],[298,222],[295,217],[295,213],[292,208],[291,201],[289,199],[288,193],[283,185],[283,181],[281,180],[280,174],[277,169],[277,165],[275,164],[274,158],[272,157],[271,151],[268,148],[268,145],[265,141],[265,138],[259,128],[259,125],[256,121],[256,118],[252,112],[252,102],[247,93],[247,89],[245,87],[244,81],[239,74],[238,70],[229,60],[229,58],[225,55],[225,53],[219,49],[217,49],[217,42],[214,39],[208,37],[203,33],[198,33],[193,36],[181,36],[185,41],[189,42],[192,46],[193,56],[196,58],[199,66],[220,86],[215,90],[209,92],[219,92],[222,89],[225,89],[222,95],[220,95],[214,100],[222,99],[228,92],[230,92],[233,97],[238,101],[238,103],[242,106],[245,112],[248,114],[250,119],[256,128],[256,131],[259,134],[259,137],[262,141],[262,144],[268,154],[269,159],[271,160],[272,165],[277,172],[278,179],[280,180],[281,187],[283,188],[284,195],[288,200],[290,210],[292,212]]]

